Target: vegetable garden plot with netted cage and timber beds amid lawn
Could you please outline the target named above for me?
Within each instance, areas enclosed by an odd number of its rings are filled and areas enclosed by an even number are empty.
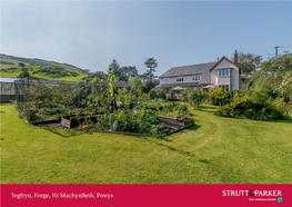
[[[50,128],[160,137],[193,125],[185,105],[122,93],[115,88],[114,76],[109,73],[108,80],[109,83],[16,80],[16,107],[29,124]]]

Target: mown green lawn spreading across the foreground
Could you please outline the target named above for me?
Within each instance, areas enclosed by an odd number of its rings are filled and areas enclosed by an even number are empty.
[[[2,184],[292,184],[292,120],[191,110],[163,139],[33,128],[1,105]]]

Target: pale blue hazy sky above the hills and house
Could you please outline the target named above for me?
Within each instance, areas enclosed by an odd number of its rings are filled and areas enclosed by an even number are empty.
[[[292,2],[2,1],[1,53],[91,71],[105,71],[117,59],[139,73],[153,57],[157,76],[232,58],[234,49],[268,59],[274,46],[292,43],[291,8]]]

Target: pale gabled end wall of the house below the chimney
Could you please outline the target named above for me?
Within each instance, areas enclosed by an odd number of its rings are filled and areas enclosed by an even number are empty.
[[[228,77],[218,77],[217,69],[225,69],[232,68],[231,76]],[[219,85],[232,85],[232,90],[240,89],[240,77],[239,77],[239,68],[231,63],[230,61],[223,59],[213,70],[211,71],[211,83]]]

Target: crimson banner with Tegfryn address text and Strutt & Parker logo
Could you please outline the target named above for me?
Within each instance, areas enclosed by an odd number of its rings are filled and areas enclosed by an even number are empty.
[[[1,206],[292,206],[292,185],[1,185]]]

